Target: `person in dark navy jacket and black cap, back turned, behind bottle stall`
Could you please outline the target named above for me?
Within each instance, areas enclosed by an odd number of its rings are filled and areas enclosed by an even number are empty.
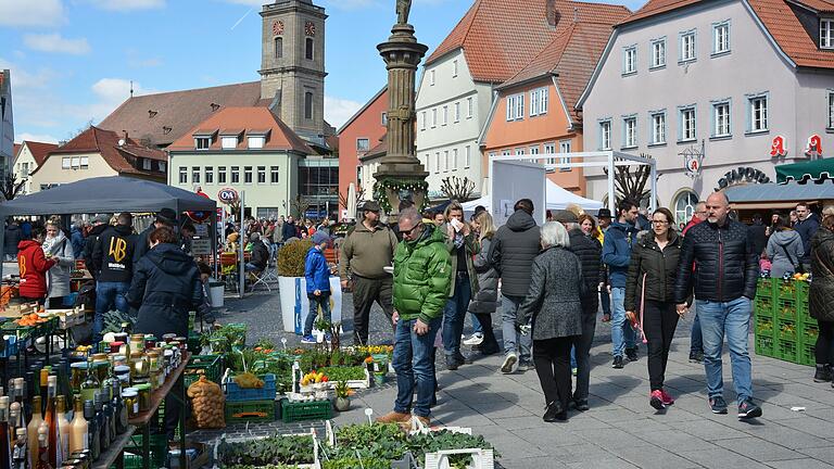
[[[188,337],[188,313],[203,301],[197,263],[179,249],[179,238],[170,228],[156,228],[148,236],[151,250],[136,265],[127,294],[128,303],[139,308],[134,332],[153,334],[157,340],[166,333]],[[165,432],[168,441],[179,422],[181,388],[175,385],[165,398]]]

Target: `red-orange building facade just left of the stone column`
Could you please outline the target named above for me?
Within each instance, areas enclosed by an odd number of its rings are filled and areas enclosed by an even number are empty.
[[[379,144],[386,135],[387,119],[386,86],[339,129],[339,193],[345,198],[351,182],[356,185],[357,190],[362,187],[359,157]],[[365,199],[369,198],[370,194],[365,195]],[[341,201],[339,204],[341,215],[346,207],[341,206]]]

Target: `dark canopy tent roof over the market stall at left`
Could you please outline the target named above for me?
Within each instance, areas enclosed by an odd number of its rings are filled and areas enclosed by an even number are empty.
[[[217,204],[194,192],[129,177],[97,177],[23,195],[0,204],[0,215],[73,215],[117,212],[208,212],[212,252],[217,253]],[[0,230],[0,246],[3,245]],[[215,258],[216,264],[216,258]],[[0,263],[0,276],[2,264]]]

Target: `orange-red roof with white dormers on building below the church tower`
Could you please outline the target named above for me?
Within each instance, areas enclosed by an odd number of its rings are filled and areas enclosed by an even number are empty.
[[[168,147],[169,151],[193,151],[193,135],[198,130],[204,129],[241,129],[257,130],[258,136],[263,135],[265,129],[269,130],[269,138],[264,143],[266,150],[293,150],[305,154],[316,154],[301,137],[290,129],[278,116],[273,114],[267,107],[226,107],[218,111],[207,119],[197,123],[190,131],[187,131],[179,139]],[[220,132],[223,134],[223,132]],[[247,150],[247,139],[240,139],[238,150]],[[220,139],[212,142],[211,150],[220,150]]]

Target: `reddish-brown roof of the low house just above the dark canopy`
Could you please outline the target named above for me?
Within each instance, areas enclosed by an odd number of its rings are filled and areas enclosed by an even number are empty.
[[[110,167],[112,167],[113,170],[118,174],[162,177],[159,173],[154,174],[144,169],[137,169],[130,160],[135,157],[143,157],[148,160],[166,162],[167,155],[165,152],[142,147],[131,138],[128,138],[123,145],[119,145],[118,143],[122,139],[123,137],[112,130],[104,130],[96,126],[90,126],[90,128],[78,134],[64,145],[49,152],[47,156],[77,153],[99,153],[101,154],[101,157],[104,159],[104,161],[108,163],[108,165],[110,165]],[[39,165],[38,168],[33,172],[33,174],[37,173],[42,167],[43,165]]]

